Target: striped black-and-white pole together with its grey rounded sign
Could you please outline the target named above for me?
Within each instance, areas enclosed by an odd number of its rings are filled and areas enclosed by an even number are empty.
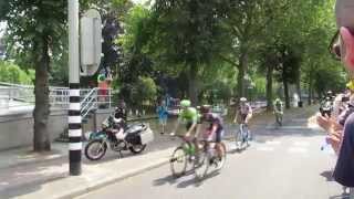
[[[79,35],[79,0],[67,0],[69,21],[69,170],[71,176],[81,175],[82,118],[80,75],[94,75],[101,63],[102,22],[98,11],[88,10],[81,19]],[[81,51],[79,43],[81,39]],[[80,52],[82,72],[80,73]]]

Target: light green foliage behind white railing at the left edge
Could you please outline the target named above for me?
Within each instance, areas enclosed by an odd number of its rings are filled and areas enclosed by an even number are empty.
[[[25,72],[11,62],[0,62],[0,82],[31,85],[33,80],[33,70]]]

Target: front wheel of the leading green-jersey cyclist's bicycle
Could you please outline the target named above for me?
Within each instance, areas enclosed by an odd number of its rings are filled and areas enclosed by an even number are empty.
[[[170,164],[170,171],[173,172],[173,176],[175,178],[178,178],[186,174],[187,161],[188,161],[187,156],[188,155],[185,151],[183,146],[179,146],[174,150],[171,158],[169,159],[169,164]]]

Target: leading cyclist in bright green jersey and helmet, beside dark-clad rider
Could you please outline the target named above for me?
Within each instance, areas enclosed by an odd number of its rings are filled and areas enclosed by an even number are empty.
[[[176,130],[179,127],[179,124],[183,123],[186,125],[187,133],[185,134],[186,137],[190,137],[190,134],[194,132],[195,137],[197,136],[197,126],[198,126],[198,112],[195,107],[190,106],[190,101],[183,100],[180,102],[180,113],[171,136],[176,135]]]

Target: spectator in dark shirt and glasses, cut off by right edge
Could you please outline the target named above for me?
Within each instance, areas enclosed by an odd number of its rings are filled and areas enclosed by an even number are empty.
[[[341,60],[354,78],[354,1],[336,0],[335,17],[339,31],[332,40],[331,53]],[[352,96],[351,96],[352,97]],[[339,155],[333,177],[345,187],[354,187],[354,114],[348,113],[344,126],[332,117],[317,116],[317,123],[340,140],[331,143]],[[333,139],[334,140],[334,139]],[[333,142],[332,140],[332,142]],[[333,145],[334,144],[334,145]]]

